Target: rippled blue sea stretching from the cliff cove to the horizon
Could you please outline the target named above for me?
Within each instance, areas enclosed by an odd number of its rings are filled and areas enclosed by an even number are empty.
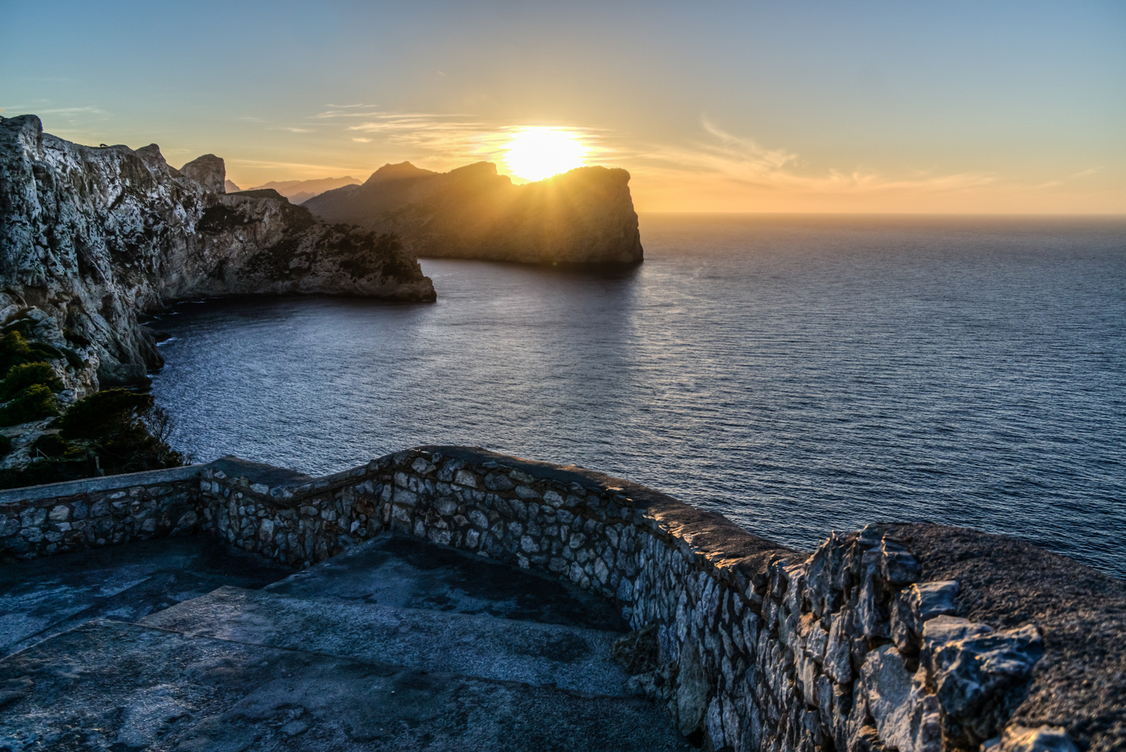
[[[423,260],[436,304],[184,304],[173,442],[319,475],[574,463],[808,549],[926,520],[1126,576],[1126,223],[643,216],[646,261]]]

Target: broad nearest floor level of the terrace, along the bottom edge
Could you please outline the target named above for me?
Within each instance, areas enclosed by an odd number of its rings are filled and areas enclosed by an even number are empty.
[[[690,749],[665,714],[641,698],[107,620],[0,660],[0,746],[9,749]]]

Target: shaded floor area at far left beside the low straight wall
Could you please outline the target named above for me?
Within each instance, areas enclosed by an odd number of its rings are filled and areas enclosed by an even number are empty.
[[[261,588],[291,570],[193,536],[0,566],[0,655],[98,617],[134,621],[223,585]]]

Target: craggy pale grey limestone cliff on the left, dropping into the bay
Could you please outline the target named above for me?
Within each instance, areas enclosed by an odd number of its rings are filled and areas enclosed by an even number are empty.
[[[272,190],[227,195],[224,183],[213,154],[176,170],[155,144],[82,146],[43,133],[33,115],[0,118],[0,314],[53,319],[44,331],[89,364],[86,376],[65,375],[84,393],[98,387],[95,371],[113,383],[160,365],[138,319],[177,299],[435,298],[395,239],[318,221]]]

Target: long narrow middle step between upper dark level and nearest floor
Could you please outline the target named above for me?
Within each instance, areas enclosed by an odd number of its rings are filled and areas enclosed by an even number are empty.
[[[262,590],[220,588],[141,624],[591,695],[625,696],[629,678],[611,659],[613,632]]]

